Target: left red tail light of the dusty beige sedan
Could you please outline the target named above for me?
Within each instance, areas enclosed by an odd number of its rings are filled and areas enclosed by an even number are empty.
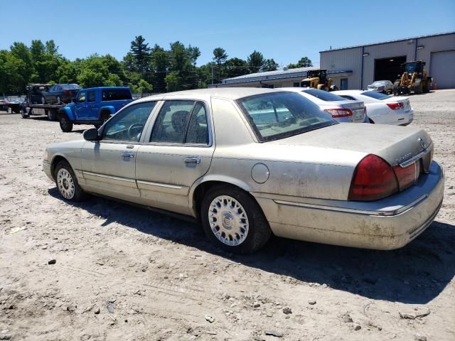
[[[379,156],[365,156],[354,171],[348,200],[373,201],[398,192],[392,167]]]

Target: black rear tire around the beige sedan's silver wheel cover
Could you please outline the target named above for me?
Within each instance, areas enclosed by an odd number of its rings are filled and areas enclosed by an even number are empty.
[[[228,245],[221,242],[220,239],[215,236],[215,232],[213,232],[212,227],[210,227],[210,205],[212,205],[212,202],[216,198],[221,196],[231,197],[233,199],[233,202],[240,204],[243,210],[240,209],[236,213],[238,214],[240,212],[240,214],[245,214],[247,217],[247,235],[245,239],[240,242],[240,244]],[[211,212],[214,212],[213,209]],[[245,191],[240,190],[240,188],[235,188],[233,186],[214,186],[213,188],[210,188],[207,193],[205,193],[202,204],[200,205],[200,220],[202,222],[205,234],[207,234],[207,237],[211,242],[216,244],[220,249],[236,254],[249,254],[257,251],[258,249],[261,249],[265,244],[267,244],[267,241],[272,235],[272,231],[269,227],[269,222],[267,222],[267,219],[265,218],[264,213],[257,204],[256,200],[249,193],[246,193]],[[224,221],[225,217],[223,217],[223,222]],[[228,222],[232,223],[232,220],[228,220]],[[214,228],[216,229],[216,227]],[[230,227],[228,228],[230,229]],[[220,231],[219,227],[218,231]],[[232,232],[233,231],[234,230],[232,230]],[[225,232],[221,232],[220,236],[222,236],[224,233]],[[231,237],[230,234],[229,237]],[[237,237],[240,237],[240,235],[237,234]],[[225,239],[230,238],[228,238],[228,236],[225,234]]]

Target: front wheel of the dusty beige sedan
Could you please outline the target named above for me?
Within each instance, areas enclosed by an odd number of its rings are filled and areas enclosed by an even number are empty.
[[[61,173],[61,175],[63,175],[61,177],[59,176],[60,170],[64,170]],[[88,195],[82,190],[77,182],[76,175],[68,161],[62,160],[57,163],[57,166],[55,166],[54,178],[58,193],[60,193],[63,199],[75,202],[87,199]],[[68,181],[68,178],[71,180]]]

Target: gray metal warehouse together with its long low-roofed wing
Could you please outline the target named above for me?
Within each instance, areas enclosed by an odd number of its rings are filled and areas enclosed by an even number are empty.
[[[424,60],[433,78],[433,88],[455,88],[455,32],[419,36],[382,43],[336,48],[320,52],[321,68],[328,70],[333,84],[341,90],[365,89],[375,80],[397,80],[400,65]],[[258,72],[228,78],[209,87],[299,87],[306,71],[301,67]]]

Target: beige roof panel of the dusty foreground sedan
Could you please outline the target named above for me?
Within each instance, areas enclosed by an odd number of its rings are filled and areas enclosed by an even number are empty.
[[[220,97],[225,99],[239,99],[253,96],[255,94],[267,94],[269,92],[279,92],[274,89],[262,89],[258,87],[217,87],[211,89],[196,89],[177,92],[167,92],[166,94],[154,94],[149,97],[137,99],[138,102],[147,102],[151,100],[172,99],[173,97],[188,97],[192,99],[207,99],[210,97]]]

